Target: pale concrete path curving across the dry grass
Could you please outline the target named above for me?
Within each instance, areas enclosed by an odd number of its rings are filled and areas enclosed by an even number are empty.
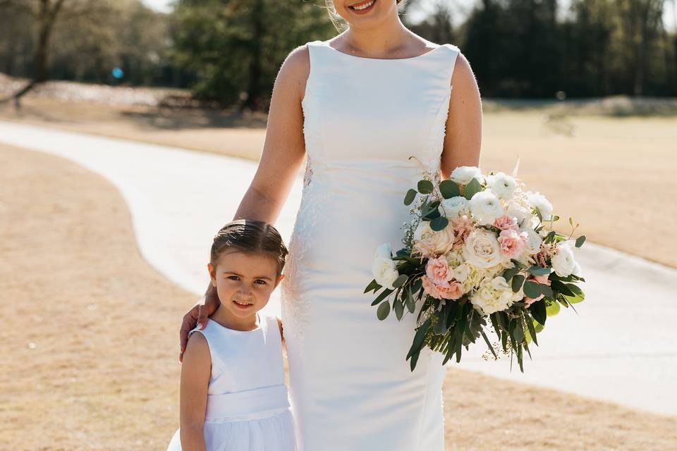
[[[3,121],[0,142],[66,157],[110,180],[130,206],[145,259],[196,300],[207,287],[212,237],[233,217],[256,168],[226,156]],[[299,174],[276,223],[287,242],[300,187]],[[677,415],[677,271],[591,242],[576,258],[587,299],[575,305],[578,314],[562,309],[549,319],[524,374],[516,362],[510,371],[508,358],[484,362],[482,343],[458,365]],[[279,290],[266,311],[279,315]]]

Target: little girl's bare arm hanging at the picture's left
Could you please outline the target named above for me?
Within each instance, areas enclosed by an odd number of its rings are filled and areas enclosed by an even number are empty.
[[[205,451],[207,388],[212,375],[212,357],[202,333],[193,333],[183,353],[181,366],[181,449]]]

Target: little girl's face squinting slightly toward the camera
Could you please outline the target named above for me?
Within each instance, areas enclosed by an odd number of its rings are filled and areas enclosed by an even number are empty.
[[[277,276],[277,263],[265,254],[226,249],[216,267],[207,264],[212,285],[228,314],[240,319],[255,318],[270,294],[284,278]]]

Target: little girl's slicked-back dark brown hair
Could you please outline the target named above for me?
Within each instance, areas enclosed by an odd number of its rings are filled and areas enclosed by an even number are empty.
[[[216,233],[210,263],[216,266],[221,252],[238,249],[250,254],[265,254],[277,262],[277,275],[282,273],[288,254],[287,247],[276,228],[264,221],[238,219],[231,221]]]

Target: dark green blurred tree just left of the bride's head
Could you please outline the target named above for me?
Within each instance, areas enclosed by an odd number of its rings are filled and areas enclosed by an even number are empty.
[[[240,109],[266,109],[289,51],[334,34],[325,8],[303,0],[179,0],[173,20],[173,58],[199,76],[195,94]]]

